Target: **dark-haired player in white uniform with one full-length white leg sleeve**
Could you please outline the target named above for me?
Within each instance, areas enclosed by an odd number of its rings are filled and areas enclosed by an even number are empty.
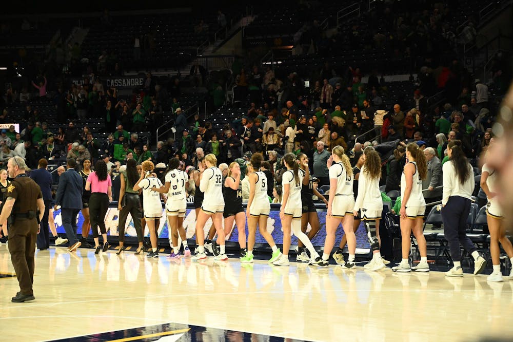
[[[283,229],[283,254],[272,264],[277,266],[290,265],[288,260],[288,252],[290,249],[290,230],[298,239],[303,242],[308,251],[310,251],[311,264],[317,264],[321,261],[319,254],[313,248],[310,239],[301,231],[301,216],[303,215],[303,204],[301,202],[301,187],[303,177],[299,173],[299,165],[295,155],[287,153],[283,157],[284,165],[287,171],[282,176],[283,198],[282,207],[280,209],[280,218],[282,220]],[[306,165],[308,167],[308,165]]]

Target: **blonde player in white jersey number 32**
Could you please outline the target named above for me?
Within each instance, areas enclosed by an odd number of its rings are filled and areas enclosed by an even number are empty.
[[[205,156],[205,168],[202,163],[198,164],[200,170],[200,191],[204,193],[203,203],[201,210],[196,218],[196,238],[198,239],[198,248],[196,248],[196,255],[193,260],[203,260],[207,258],[204,249],[205,232],[203,231],[205,223],[209,218],[215,226],[218,233],[218,242],[220,247],[219,255],[214,257],[214,260],[227,260],[225,250],[225,233],[223,230],[223,211],[224,211],[224,198],[223,198],[223,174],[221,170],[216,167],[218,160],[215,155],[208,154]]]

